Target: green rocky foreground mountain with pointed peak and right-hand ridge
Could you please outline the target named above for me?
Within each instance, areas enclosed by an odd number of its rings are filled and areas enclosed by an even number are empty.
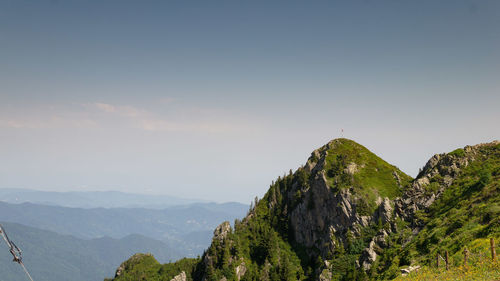
[[[464,249],[486,271],[490,237],[500,237],[499,142],[437,154],[412,179],[336,139],[273,182],[234,228],[219,225],[200,259],[136,255],[113,280],[388,280],[445,251],[457,266]],[[464,278],[499,279],[495,266]]]

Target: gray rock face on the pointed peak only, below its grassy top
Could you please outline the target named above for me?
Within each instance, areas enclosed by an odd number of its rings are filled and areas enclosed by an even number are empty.
[[[328,149],[330,145],[334,146],[335,143],[327,144],[326,148]],[[379,207],[373,216],[362,216],[357,211],[357,197],[352,188],[334,191],[328,186],[324,171],[327,149],[314,151],[304,167],[305,171],[309,171],[313,177],[309,186],[293,186],[288,194],[289,201],[292,200],[296,190],[300,190],[303,195],[302,200],[289,212],[290,226],[295,241],[306,248],[319,249],[322,257],[327,256],[329,252],[334,252],[339,246],[338,243],[344,243],[348,233],[359,237],[363,227],[378,220],[385,224],[391,222],[394,217],[394,203],[388,198],[377,202]],[[363,166],[349,163],[344,172],[354,175],[360,168]],[[399,176],[395,174],[395,179],[400,182]],[[386,245],[387,235],[384,231],[378,240],[372,241],[373,246]],[[364,259],[361,261],[366,263],[366,268],[369,268],[376,259],[376,253],[373,247],[365,249],[365,252]],[[318,253],[309,254],[317,255]]]

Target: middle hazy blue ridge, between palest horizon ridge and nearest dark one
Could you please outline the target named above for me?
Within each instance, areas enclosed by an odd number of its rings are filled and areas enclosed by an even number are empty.
[[[0,202],[0,221],[20,223],[81,239],[141,234],[161,240],[183,256],[196,256],[210,244],[220,221],[243,216],[240,203],[195,203],[162,210],[143,208],[67,208]]]

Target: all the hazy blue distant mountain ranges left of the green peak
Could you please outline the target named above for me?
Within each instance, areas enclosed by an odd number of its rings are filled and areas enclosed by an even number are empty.
[[[163,200],[168,198],[172,200]],[[163,199],[121,192],[0,189],[0,222],[23,250],[35,280],[92,281],[113,276],[120,261],[136,252],[151,252],[163,262],[201,255],[220,221],[242,218],[248,211],[240,203]],[[148,202],[152,208],[146,208]],[[0,241],[0,281],[25,280],[11,260]]]

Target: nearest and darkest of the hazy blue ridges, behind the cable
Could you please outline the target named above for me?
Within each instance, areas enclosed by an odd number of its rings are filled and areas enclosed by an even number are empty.
[[[137,251],[151,252],[163,262],[180,254],[165,243],[142,235],[122,239],[83,240],[15,223],[1,223],[10,239],[24,252],[24,263],[37,281],[92,281],[110,276],[120,262]],[[27,277],[13,263],[5,243],[0,243],[0,280],[24,281]]]

